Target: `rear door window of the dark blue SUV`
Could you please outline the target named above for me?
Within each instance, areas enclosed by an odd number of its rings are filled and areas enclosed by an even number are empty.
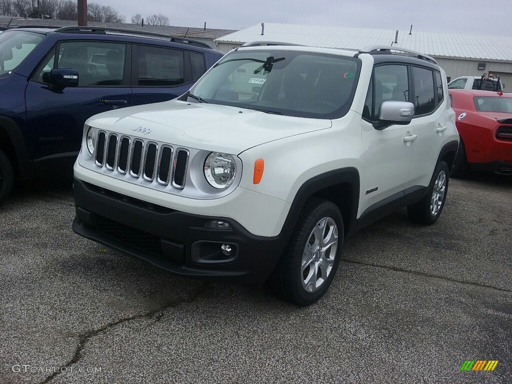
[[[183,51],[138,46],[139,87],[173,87],[184,83]]]

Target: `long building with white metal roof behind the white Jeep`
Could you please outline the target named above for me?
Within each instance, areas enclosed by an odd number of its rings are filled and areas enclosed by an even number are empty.
[[[292,42],[314,47],[362,49],[396,45],[436,58],[449,78],[499,74],[512,89],[512,36],[482,36],[457,33],[421,32],[350,27],[258,24],[217,38],[217,49],[228,52],[248,41]],[[396,41],[396,42],[395,42]],[[482,65],[483,64],[483,65]],[[483,70],[478,69],[484,67]]]

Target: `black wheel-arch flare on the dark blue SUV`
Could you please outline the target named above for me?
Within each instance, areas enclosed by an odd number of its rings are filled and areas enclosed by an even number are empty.
[[[10,154],[15,157],[19,177],[28,179],[33,173],[33,163],[29,157],[29,151],[18,124],[7,116],[0,116],[0,137],[6,136],[9,140],[7,146]]]

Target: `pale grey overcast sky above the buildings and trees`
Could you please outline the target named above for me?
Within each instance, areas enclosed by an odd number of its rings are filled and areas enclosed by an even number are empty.
[[[93,0],[88,0],[92,3]],[[243,29],[286,23],[512,36],[512,0],[96,0],[130,23],[163,13],[169,25]]]

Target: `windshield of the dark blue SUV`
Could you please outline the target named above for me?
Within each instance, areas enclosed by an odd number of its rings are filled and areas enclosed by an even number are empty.
[[[0,76],[14,70],[45,35],[26,31],[0,33]]]

